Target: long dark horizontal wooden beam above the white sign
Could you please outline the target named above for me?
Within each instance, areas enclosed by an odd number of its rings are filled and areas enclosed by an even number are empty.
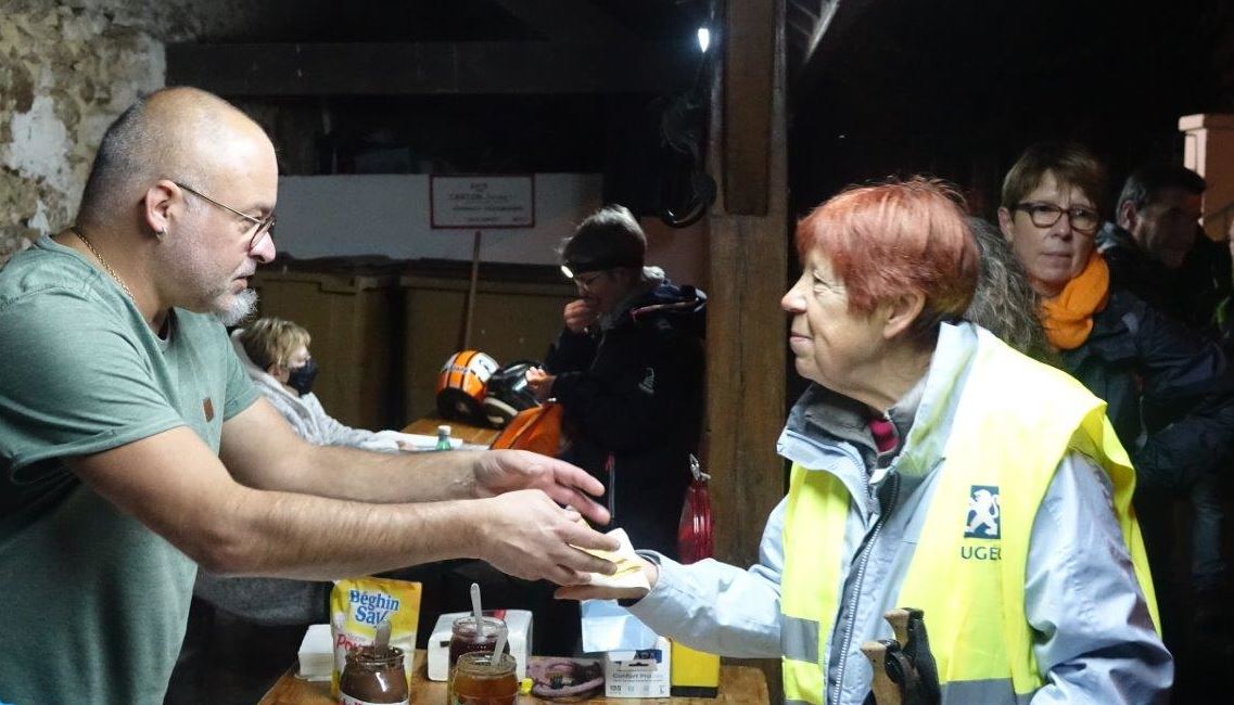
[[[227,96],[669,92],[686,43],[169,44],[168,85]]]

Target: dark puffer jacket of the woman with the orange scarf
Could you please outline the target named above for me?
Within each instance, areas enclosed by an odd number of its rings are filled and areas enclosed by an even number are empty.
[[[1182,491],[1224,471],[1234,447],[1234,383],[1218,346],[1112,286],[1088,340],[1062,367],[1108,404],[1143,491]]]

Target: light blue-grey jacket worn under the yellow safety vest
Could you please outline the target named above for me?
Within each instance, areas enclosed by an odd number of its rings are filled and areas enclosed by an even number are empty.
[[[914,408],[890,413],[906,440],[886,472],[871,472],[874,441],[851,402],[821,387],[807,391],[780,436],[780,455],[832,472],[854,498],[865,498],[849,508],[844,592],[823,657],[826,701],[832,705],[860,705],[870,690],[871,669],[859,647],[891,637],[881,615],[900,606],[895,599],[980,335],[988,333],[967,323],[943,325],[929,372],[901,402]],[[759,563],[748,571],[710,560],[681,566],[650,556],[660,563],[659,582],[631,611],[659,634],[696,648],[780,657],[784,511],[781,502],[764,530]],[[1087,457],[1069,454],[1059,463],[1030,541],[1024,614],[1037,631],[1034,656],[1046,682],[1032,703],[1166,703],[1172,658],[1151,626],[1111,510],[1108,478]],[[943,701],[982,700],[954,684],[944,689]]]

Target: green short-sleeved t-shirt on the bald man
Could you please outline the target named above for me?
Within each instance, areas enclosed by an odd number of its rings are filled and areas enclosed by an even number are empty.
[[[0,701],[159,704],[196,564],[62,462],[189,426],[215,452],[257,399],[222,324],[167,339],[49,238],[0,269]]]

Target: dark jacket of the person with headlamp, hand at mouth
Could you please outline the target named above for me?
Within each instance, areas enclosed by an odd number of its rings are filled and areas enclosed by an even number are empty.
[[[665,280],[600,334],[563,330],[544,364],[565,409],[569,445],[560,457],[605,483],[610,528],[626,529],[637,548],[673,557],[702,425],[706,301]]]

